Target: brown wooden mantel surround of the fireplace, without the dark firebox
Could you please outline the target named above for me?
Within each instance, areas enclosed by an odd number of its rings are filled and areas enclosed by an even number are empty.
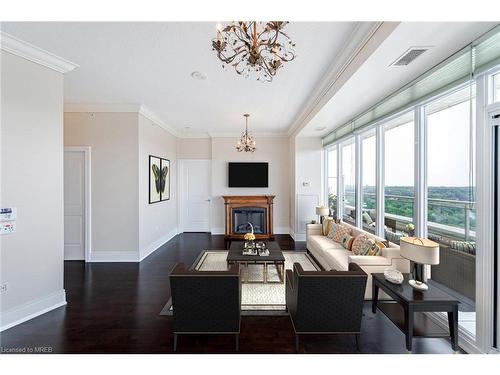
[[[266,211],[265,228],[263,233],[255,234],[256,239],[274,239],[273,233],[273,200],[274,195],[223,195],[226,207],[226,228],[224,238],[226,240],[242,240],[243,234],[235,233],[233,227],[233,209],[241,208],[264,208]]]

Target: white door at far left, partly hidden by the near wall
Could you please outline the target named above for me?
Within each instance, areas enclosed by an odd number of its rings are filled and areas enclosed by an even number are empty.
[[[64,151],[64,260],[85,260],[83,151]]]

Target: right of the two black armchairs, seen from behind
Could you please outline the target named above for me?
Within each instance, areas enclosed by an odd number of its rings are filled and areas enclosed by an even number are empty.
[[[300,264],[286,271],[286,306],[299,350],[301,334],[359,333],[367,274],[355,263],[348,271],[304,271]]]

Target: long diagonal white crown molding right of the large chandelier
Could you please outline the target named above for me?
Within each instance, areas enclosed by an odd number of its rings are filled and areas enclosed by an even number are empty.
[[[323,75],[323,84],[311,93],[303,110],[288,128],[287,135],[297,136],[398,25],[399,22],[358,23],[338,57]]]

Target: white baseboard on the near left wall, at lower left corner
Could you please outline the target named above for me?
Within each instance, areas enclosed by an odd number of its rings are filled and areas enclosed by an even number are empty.
[[[0,332],[66,305],[64,289],[37,298],[0,314]]]

